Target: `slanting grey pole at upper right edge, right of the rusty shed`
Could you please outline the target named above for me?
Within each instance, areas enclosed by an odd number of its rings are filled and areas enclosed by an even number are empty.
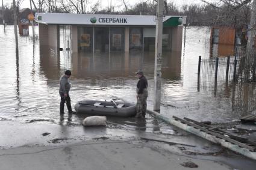
[[[247,49],[252,49],[253,45],[256,47],[255,42],[255,32],[256,32],[256,0],[252,2],[252,8],[251,8],[251,20],[250,20],[250,26],[248,31],[248,40],[247,40]]]

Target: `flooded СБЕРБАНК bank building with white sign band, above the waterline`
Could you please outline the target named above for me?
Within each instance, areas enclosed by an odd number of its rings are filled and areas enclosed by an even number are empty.
[[[36,13],[40,46],[60,47],[60,26],[68,27],[66,47],[74,52],[129,52],[155,49],[156,16]],[[163,50],[181,51],[186,16],[163,17]]]

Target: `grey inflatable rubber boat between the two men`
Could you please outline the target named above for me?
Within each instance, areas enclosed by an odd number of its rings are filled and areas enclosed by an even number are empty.
[[[131,103],[114,102],[114,100],[82,100],[75,105],[78,114],[99,116],[133,117],[136,115],[136,106]]]

